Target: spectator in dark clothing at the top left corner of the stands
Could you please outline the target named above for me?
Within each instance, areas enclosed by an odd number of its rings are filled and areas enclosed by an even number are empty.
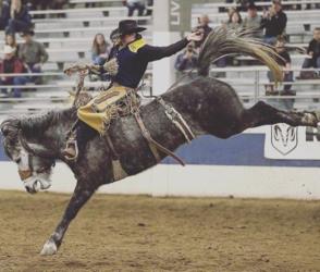
[[[32,27],[32,17],[28,13],[28,9],[25,4],[22,4],[21,0],[12,0],[10,8],[10,20],[7,33],[24,32]]]

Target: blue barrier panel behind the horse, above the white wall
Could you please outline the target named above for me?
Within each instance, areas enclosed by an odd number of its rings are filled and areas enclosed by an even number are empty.
[[[2,141],[2,137],[0,137]],[[239,134],[230,139],[201,136],[183,145],[176,153],[187,164],[251,166],[320,166],[319,160],[270,160],[263,156],[264,134]],[[0,161],[9,161],[0,145]],[[176,164],[171,158],[164,164]]]

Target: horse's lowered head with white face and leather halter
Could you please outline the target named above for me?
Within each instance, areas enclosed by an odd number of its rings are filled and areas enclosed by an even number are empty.
[[[28,144],[22,134],[20,120],[1,124],[3,147],[8,157],[17,164],[19,174],[30,194],[51,186],[50,175],[54,159],[52,153],[36,144]]]

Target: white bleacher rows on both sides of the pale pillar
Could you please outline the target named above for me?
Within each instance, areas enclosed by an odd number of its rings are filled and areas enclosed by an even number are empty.
[[[193,4],[189,14],[190,27],[196,25],[197,17],[204,13],[209,14],[211,26],[220,25],[222,21],[226,20],[226,13],[221,12],[221,8],[234,5],[219,1],[206,2]],[[292,45],[306,47],[311,38],[312,28],[320,25],[320,0],[283,2],[285,7],[301,3],[304,7],[308,4],[308,10],[286,11],[288,17],[286,34]],[[88,4],[93,7],[88,8]],[[258,7],[270,5],[270,2],[256,2],[256,4]],[[152,7],[148,9],[152,9]],[[127,18],[127,9],[119,0],[70,0],[66,9],[40,10],[30,13],[35,23],[35,39],[44,42],[50,55],[44,66],[44,73],[37,74],[42,76],[44,83],[22,86],[25,91],[20,99],[0,98],[0,114],[33,113],[44,109],[67,107],[70,104],[69,91],[75,88],[75,78],[67,78],[63,75],[63,67],[76,62],[89,63],[94,35],[103,33],[108,37],[120,20]],[[153,16],[162,16],[162,13],[163,11],[155,10]],[[57,17],[57,15],[60,16]],[[242,13],[242,15],[245,14]],[[138,20],[139,24],[148,28],[144,36],[148,42],[152,44],[153,17],[134,16],[133,18]],[[3,32],[0,33],[0,47],[4,42],[3,36]],[[291,57],[293,70],[297,76],[306,55],[293,52]],[[220,78],[233,85],[248,106],[258,99],[266,99],[263,85],[268,83],[267,69],[261,65],[247,65],[246,63],[250,59],[246,57],[238,57],[237,60],[242,65],[213,67],[212,75],[221,75],[223,72],[224,76]],[[151,91],[152,66],[149,66],[146,77],[148,78],[146,82],[149,83],[147,91]],[[297,91],[295,108],[320,108],[319,79],[295,81],[291,84],[293,89]],[[108,84],[86,81],[86,87],[89,89],[100,88],[102,85]]]

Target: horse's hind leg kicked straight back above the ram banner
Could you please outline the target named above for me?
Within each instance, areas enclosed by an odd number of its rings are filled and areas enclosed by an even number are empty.
[[[263,101],[257,102],[253,108],[244,110],[242,116],[242,131],[261,125],[286,123],[292,126],[315,126],[319,122],[313,112],[286,112],[278,110]]]

